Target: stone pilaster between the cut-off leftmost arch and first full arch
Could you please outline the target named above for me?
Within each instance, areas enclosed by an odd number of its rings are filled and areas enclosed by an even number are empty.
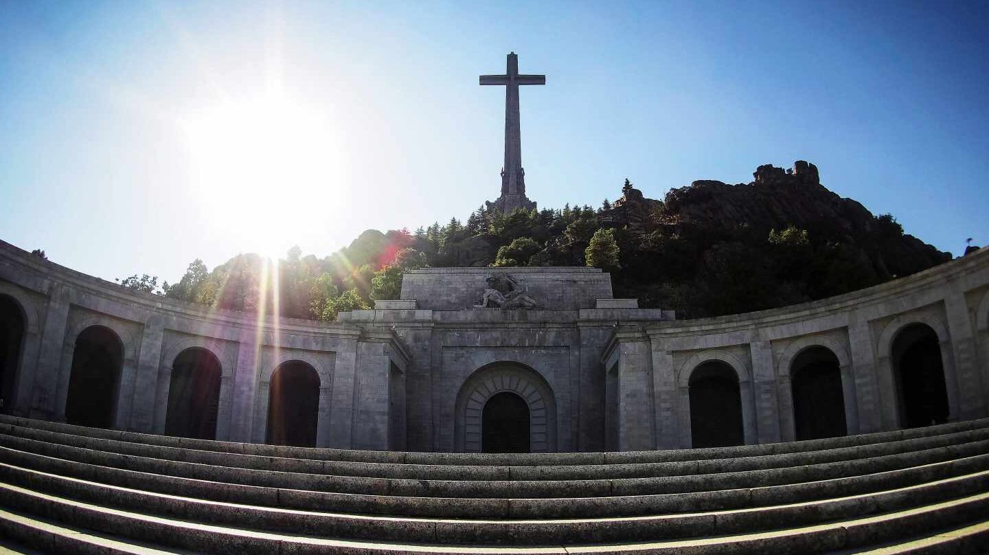
[[[61,368],[62,343],[68,322],[69,297],[69,291],[61,284],[52,284],[48,289],[41,352],[31,395],[29,416],[33,418],[51,419],[65,412],[64,407],[55,407],[55,404],[58,399],[58,371]]]

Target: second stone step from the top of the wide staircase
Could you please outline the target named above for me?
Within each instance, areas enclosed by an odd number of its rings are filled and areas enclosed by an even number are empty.
[[[391,478],[400,480],[600,480],[633,479],[723,473],[744,470],[764,470],[827,462],[839,462],[930,449],[962,441],[989,439],[989,426],[911,439],[890,440],[854,447],[823,451],[804,451],[733,459],[690,460],[665,463],[630,463],[583,466],[445,466],[398,463],[348,463],[294,459],[202,451],[163,445],[134,443],[54,432],[13,424],[0,423],[0,433],[26,437],[47,443],[86,447],[104,452],[135,455],[161,460],[222,465],[248,469],[264,469],[306,474]]]

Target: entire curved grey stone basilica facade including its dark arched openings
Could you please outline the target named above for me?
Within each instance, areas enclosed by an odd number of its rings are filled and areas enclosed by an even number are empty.
[[[0,242],[8,414],[439,452],[756,444],[989,415],[989,249],[840,297],[678,321],[594,268],[425,268],[339,322],[136,293]]]

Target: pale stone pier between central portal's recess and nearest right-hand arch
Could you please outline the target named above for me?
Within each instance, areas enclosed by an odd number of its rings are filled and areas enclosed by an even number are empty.
[[[652,349],[639,330],[618,331],[618,450],[656,448]]]

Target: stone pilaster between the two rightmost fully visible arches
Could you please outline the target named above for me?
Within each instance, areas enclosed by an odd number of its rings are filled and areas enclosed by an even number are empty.
[[[876,357],[872,346],[872,334],[867,322],[849,325],[849,345],[852,348],[852,373],[854,374],[854,398],[858,408],[858,433],[893,429],[895,419],[884,422],[882,401],[876,388]],[[886,357],[886,364],[889,358]],[[891,392],[893,393],[893,392]],[[848,400],[846,400],[848,403]],[[886,418],[895,415],[886,416]]]

